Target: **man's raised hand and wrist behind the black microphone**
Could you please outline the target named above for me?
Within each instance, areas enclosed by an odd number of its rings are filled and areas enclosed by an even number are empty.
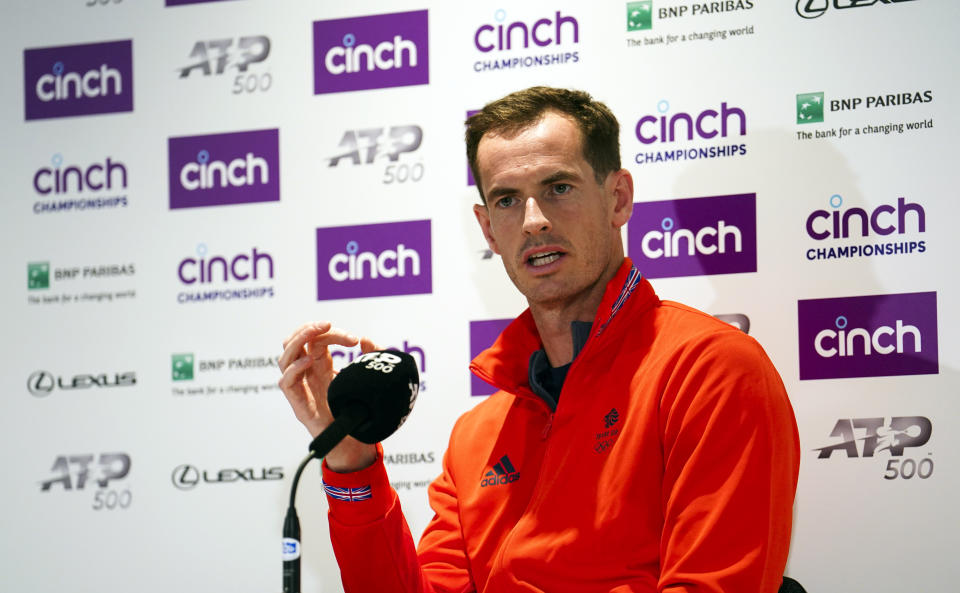
[[[287,396],[293,413],[314,438],[333,422],[327,406],[327,388],[337,376],[329,346],[356,346],[363,353],[377,350],[369,338],[357,338],[344,330],[331,327],[330,322],[307,323],[294,331],[283,342],[279,366],[283,376],[278,385]],[[359,471],[376,461],[374,445],[361,443],[348,436],[325,458],[327,467],[335,472]]]

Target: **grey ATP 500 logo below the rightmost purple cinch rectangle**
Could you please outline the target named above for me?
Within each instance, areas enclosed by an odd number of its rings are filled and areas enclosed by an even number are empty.
[[[884,468],[886,480],[913,477],[926,480],[933,475],[932,453],[921,457],[904,457],[906,449],[914,453],[927,444],[933,434],[933,423],[924,416],[894,416],[892,418],[841,418],[833,426],[831,437],[841,439],[831,445],[814,449],[817,459],[830,459],[837,453],[848,459],[866,459],[880,453],[889,454]]]

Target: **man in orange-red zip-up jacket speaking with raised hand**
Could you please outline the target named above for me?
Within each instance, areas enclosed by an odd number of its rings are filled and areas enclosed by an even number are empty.
[[[418,549],[379,448],[326,458],[347,591],[773,593],[799,445],[783,384],[739,330],[660,301],[624,257],[633,181],[619,125],[582,92],[534,87],[468,120],[481,231],[529,309],[471,364],[500,391],[456,423]],[[280,386],[329,422],[328,323],[284,343]]]

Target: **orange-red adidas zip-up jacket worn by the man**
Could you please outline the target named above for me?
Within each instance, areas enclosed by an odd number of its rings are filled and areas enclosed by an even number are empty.
[[[800,451],[757,342],[626,259],[555,411],[527,379],[540,347],[527,311],[471,364],[500,391],[457,421],[417,549],[382,461],[324,467],[344,589],[774,593]]]

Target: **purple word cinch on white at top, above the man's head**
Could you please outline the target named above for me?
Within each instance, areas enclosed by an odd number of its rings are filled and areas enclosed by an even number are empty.
[[[507,12],[502,8],[494,14],[496,25],[484,24],[473,34],[473,44],[484,53],[491,51],[510,51],[514,49],[528,49],[530,43],[538,47],[561,45],[564,42],[564,30],[567,39],[572,37],[573,43],[580,43],[580,24],[572,16],[563,16],[556,11],[553,19],[540,18],[527,24],[515,21],[504,24]],[[564,25],[567,25],[564,28]]]

